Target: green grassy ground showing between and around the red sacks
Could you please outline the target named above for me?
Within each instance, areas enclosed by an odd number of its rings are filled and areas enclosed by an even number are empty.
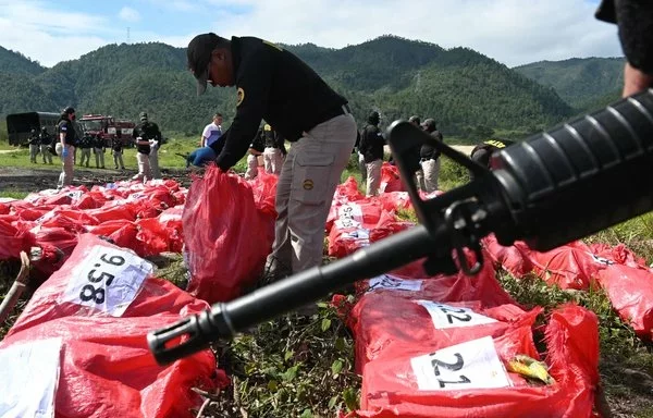
[[[196,139],[172,139],[161,150],[161,165],[183,168],[175,152],[194,149]],[[135,165],[134,150],[125,152],[125,163]],[[0,155],[0,167],[29,167],[26,150],[16,157]],[[39,164],[40,165],[40,164]],[[244,160],[236,171],[244,171]],[[356,168],[356,157],[342,180],[354,175],[365,187]],[[468,181],[467,172],[444,159],[441,186],[451,189]],[[0,190],[0,196],[21,198],[21,193]],[[415,220],[411,212],[403,212]],[[621,223],[586,242],[626,244],[648,263],[653,262],[653,213]],[[186,269],[181,255],[159,266],[158,275],[183,286]],[[0,295],[15,274],[15,265],[0,262]],[[603,292],[565,292],[547,286],[535,276],[516,280],[500,273],[504,287],[526,307],[542,306],[546,311],[562,303],[575,302],[593,310],[600,320],[600,372],[613,417],[653,418],[653,353],[612,309]],[[23,302],[24,304],[24,302]],[[321,303],[317,315],[305,318],[283,316],[260,324],[232,342],[215,344],[221,368],[233,377],[233,385],[220,393],[202,417],[333,417],[336,410],[354,410],[360,391],[360,377],[354,372],[354,342],[335,310]],[[20,307],[19,307],[20,311]],[[15,319],[15,316],[12,320]],[[11,321],[10,321],[11,323]],[[0,337],[8,324],[0,330]]]

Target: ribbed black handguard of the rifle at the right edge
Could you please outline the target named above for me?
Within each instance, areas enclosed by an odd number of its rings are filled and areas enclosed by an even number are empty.
[[[653,209],[653,90],[532,136],[492,156],[516,228],[547,250]]]

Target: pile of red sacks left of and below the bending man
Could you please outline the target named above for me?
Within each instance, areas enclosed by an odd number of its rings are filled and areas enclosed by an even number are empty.
[[[272,244],[275,188],[272,175],[209,168],[189,190],[121,182],[0,202],[0,259],[36,250],[44,281],[0,343],[11,364],[0,416],[194,417],[193,389],[229,379],[208,349],[157,365],[146,335],[251,283]],[[140,258],[182,250],[189,293]]]

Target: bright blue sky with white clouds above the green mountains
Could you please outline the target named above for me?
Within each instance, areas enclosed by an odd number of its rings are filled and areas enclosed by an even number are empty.
[[[616,27],[594,19],[596,5],[597,0],[0,0],[0,46],[46,66],[127,40],[185,47],[205,32],[331,48],[393,34],[472,48],[508,66],[619,57]]]

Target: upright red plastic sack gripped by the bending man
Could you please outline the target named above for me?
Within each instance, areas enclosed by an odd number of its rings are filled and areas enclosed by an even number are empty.
[[[262,272],[273,223],[247,181],[209,167],[193,181],[183,214],[188,292],[211,304],[238,296]]]

